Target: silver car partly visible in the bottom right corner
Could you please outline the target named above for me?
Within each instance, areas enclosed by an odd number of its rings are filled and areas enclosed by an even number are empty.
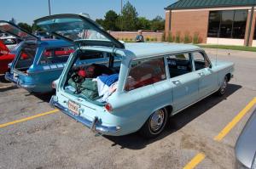
[[[236,168],[256,169],[256,109],[236,141]]]

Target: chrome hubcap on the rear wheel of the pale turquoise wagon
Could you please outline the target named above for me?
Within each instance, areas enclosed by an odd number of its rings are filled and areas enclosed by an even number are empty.
[[[150,128],[153,132],[157,132],[163,126],[165,121],[165,112],[163,110],[156,110],[150,119]]]

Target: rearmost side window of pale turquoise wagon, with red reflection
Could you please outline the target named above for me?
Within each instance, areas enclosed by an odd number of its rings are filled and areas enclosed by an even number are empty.
[[[125,91],[131,91],[164,80],[166,80],[164,58],[133,60],[126,79]]]

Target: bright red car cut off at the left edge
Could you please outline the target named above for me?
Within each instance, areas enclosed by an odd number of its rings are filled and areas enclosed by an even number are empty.
[[[15,48],[10,52],[9,48],[0,40],[0,74],[9,70],[9,63],[15,59]]]

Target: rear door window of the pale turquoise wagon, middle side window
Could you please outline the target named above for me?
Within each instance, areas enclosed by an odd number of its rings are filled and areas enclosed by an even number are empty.
[[[166,57],[170,76],[176,77],[191,72],[192,62],[191,54],[172,54]]]

